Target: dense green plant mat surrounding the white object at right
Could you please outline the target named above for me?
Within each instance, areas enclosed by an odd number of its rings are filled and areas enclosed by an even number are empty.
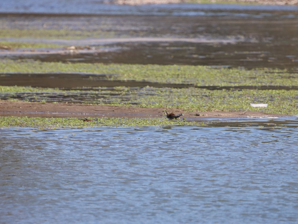
[[[159,95],[138,98],[140,106],[181,108],[188,111],[262,111],[287,115],[298,114],[297,90],[205,90],[196,88],[164,89]],[[253,108],[250,103],[268,103]]]

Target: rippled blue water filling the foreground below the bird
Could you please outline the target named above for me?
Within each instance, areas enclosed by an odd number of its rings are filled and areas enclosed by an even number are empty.
[[[297,223],[297,127],[4,128],[0,223]]]

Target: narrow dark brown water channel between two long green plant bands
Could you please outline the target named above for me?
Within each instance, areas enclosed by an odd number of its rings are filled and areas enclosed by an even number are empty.
[[[294,71],[297,73],[298,71]],[[111,80],[117,74],[104,73],[0,73],[0,84],[3,86],[31,86],[43,88],[61,88],[64,90],[97,90],[94,87],[169,87],[169,88],[204,88],[209,90],[240,90],[240,89],[261,89],[261,90],[297,90],[292,86],[195,86],[194,84],[173,84],[146,82],[134,80]],[[92,87],[92,88],[91,88]]]

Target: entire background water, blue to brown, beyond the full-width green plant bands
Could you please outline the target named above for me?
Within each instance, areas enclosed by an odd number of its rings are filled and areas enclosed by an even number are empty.
[[[26,1],[27,2],[27,1]],[[81,40],[5,40],[91,46],[104,51],[33,54],[3,50],[1,57],[41,61],[298,67],[297,6],[170,4],[118,6],[102,1],[69,5],[23,3],[0,14],[2,28],[102,31]],[[57,5],[55,5],[57,4]],[[59,6],[59,7],[58,7]],[[8,13],[14,12],[14,13]],[[26,13],[25,13],[26,12]],[[44,12],[47,12],[46,14]],[[52,13],[52,14],[51,14]],[[64,39],[63,39],[64,38]],[[3,39],[3,40],[4,40]],[[109,49],[109,50],[107,50]],[[27,49],[28,50],[28,49]]]

